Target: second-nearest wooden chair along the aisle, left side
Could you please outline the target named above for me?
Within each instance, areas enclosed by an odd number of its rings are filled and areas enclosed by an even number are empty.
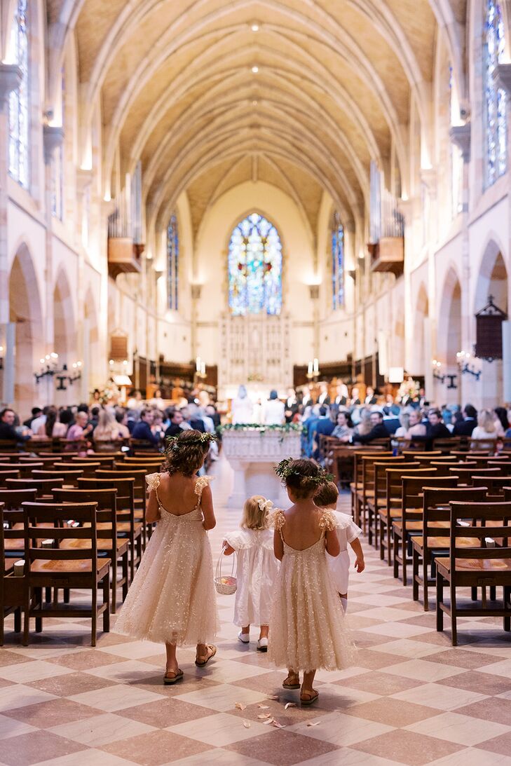
[[[123,588],[123,600],[128,593],[128,552],[129,538],[117,535],[117,506],[116,489],[55,489],[55,502],[71,506],[80,502],[95,502],[97,504],[97,550],[98,555],[107,556],[112,561],[112,613],[116,613],[117,588]],[[87,547],[87,541],[80,538],[66,540],[61,548]],[[117,578],[118,564],[121,565],[121,576]]]

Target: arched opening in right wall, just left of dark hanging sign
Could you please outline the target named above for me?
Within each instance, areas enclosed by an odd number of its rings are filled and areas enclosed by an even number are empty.
[[[437,358],[442,363],[442,374],[457,375],[448,388],[449,380],[437,383],[437,401],[457,404],[460,399],[460,376],[457,368],[457,352],[461,350],[461,285],[454,268],[450,268],[444,282],[437,326]],[[441,389],[439,388],[441,386]]]

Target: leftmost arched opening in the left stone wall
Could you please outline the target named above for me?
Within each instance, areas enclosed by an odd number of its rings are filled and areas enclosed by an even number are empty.
[[[15,401],[21,417],[27,417],[34,402],[46,404],[46,396],[35,385],[34,372],[44,355],[43,320],[38,280],[28,247],[19,247],[9,275],[9,321],[15,322]],[[39,388],[44,385],[43,381]]]

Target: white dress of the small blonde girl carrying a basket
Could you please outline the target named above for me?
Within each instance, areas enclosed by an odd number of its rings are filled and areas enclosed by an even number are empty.
[[[240,529],[225,535],[237,553],[234,625],[267,625],[278,561],[273,529]]]

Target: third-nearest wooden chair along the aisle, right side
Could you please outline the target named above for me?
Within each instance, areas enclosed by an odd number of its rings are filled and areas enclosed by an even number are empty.
[[[424,486],[445,489],[457,486],[457,476],[401,476],[401,519],[392,521],[392,551],[394,556],[394,577],[402,571],[403,585],[408,584],[408,564],[411,564],[411,535],[422,531],[422,498]],[[401,553],[400,553],[401,545]]]

